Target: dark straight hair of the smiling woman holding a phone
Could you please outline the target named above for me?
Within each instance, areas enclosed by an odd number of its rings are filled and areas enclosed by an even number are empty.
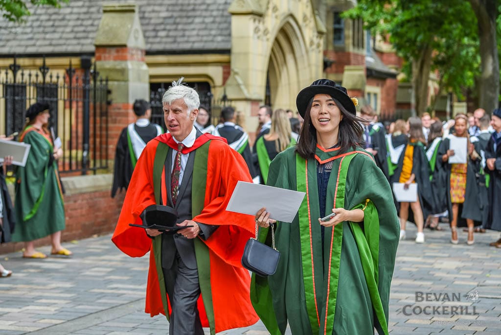
[[[317,129],[313,126],[310,116],[313,98],[310,99],[306,108],[305,121],[301,127],[298,145],[296,146],[296,152],[305,159],[313,158],[317,148]],[[332,99],[343,116],[343,119],[339,122],[338,143],[340,152],[345,152],[349,147],[356,146],[362,140],[363,128],[361,122],[365,122],[365,120],[347,111],[339,100],[334,97]]]

